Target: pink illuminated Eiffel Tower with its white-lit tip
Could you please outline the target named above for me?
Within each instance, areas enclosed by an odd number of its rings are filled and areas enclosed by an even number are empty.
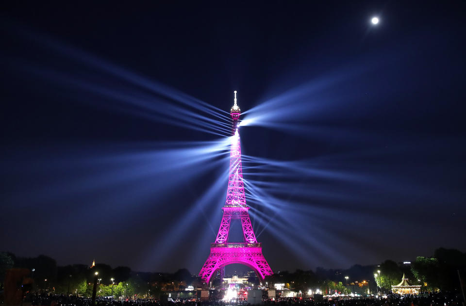
[[[226,265],[241,263],[252,268],[264,280],[266,275],[272,275],[272,269],[262,254],[262,245],[257,242],[249,218],[249,207],[246,205],[243,185],[243,169],[241,167],[241,146],[237,129],[241,111],[236,104],[230,111],[233,119],[233,137],[230,153],[230,175],[228,179],[227,201],[223,209],[223,217],[218,229],[217,238],[210,245],[210,255],[200,270],[199,275],[208,283],[211,277]],[[244,242],[228,242],[230,223],[232,219],[240,219],[243,228]]]

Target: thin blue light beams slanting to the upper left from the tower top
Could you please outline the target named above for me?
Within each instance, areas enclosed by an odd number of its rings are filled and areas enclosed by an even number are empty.
[[[55,52],[58,52],[58,56],[71,59],[76,64],[79,64],[78,69],[82,73],[75,73],[75,76],[89,73],[89,69],[93,71],[90,75],[82,77],[82,80],[72,80],[73,78],[65,72],[52,71],[50,67],[37,67],[34,69],[35,63],[33,61],[27,63],[27,59],[10,58],[8,63],[15,65],[15,69],[22,68],[28,75],[35,73],[41,79],[46,76],[51,81],[57,83],[68,82],[68,86],[77,86],[75,90],[84,88],[104,95],[107,99],[111,100],[101,105],[96,105],[95,99],[89,99],[88,97],[75,98],[76,101],[92,101],[93,106],[96,107],[105,106],[109,107],[112,111],[119,109],[127,113],[143,115],[145,118],[151,117],[150,115],[145,115],[146,111],[149,111],[154,116],[152,120],[157,120],[158,122],[166,122],[212,134],[221,134],[223,131],[226,132],[225,135],[228,135],[231,125],[228,124],[228,119],[225,116],[226,112],[209,103],[161,83],[151,81],[148,78],[118,67],[115,64],[108,63],[84,51],[65,46],[50,37],[36,33],[33,34],[20,27],[18,27],[18,32],[28,39],[40,43],[40,46],[45,49],[53,49]],[[47,44],[44,44],[44,42],[47,42]],[[65,70],[65,67],[59,69],[63,71],[70,70]],[[115,81],[112,82],[112,80]],[[115,84],[119,86],[115,86]],[[126,90],[123,90],[123,88]],[[73,99],[73,97],[67,98]],[[118,100],[120,105],[110,103],[115,100]],[[199,112],[203,114],[201,115]],[[180,123],[179,121],[182,122]]]

